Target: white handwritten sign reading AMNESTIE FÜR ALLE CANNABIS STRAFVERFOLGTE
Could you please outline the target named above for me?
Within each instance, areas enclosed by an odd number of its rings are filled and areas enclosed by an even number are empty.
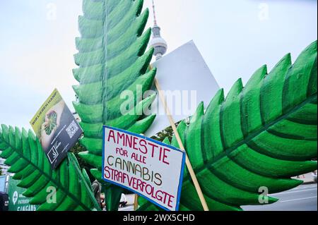
[[[102,178],[167,211],[179,209],[185,154],[175,147],[104,126]]]

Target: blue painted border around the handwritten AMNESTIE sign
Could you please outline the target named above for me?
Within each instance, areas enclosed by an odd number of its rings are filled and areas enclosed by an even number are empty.
[[[108,183],[112,183],[114,184],[115,186],[119,186],[121,188],[124,188],[126,190],[130,190],[132,193],[136,193],[137,195],[140,195],[141,197],[144,197],[146,198],[146,200],[148,200],[149,202],[153,203],[154,205],[157,205],[158,207],[162,208],[162,209],[165,209],[166,211],[171,211],[170,209],[167,209],[166,207],[163,207],[162,205],[160,205],[158,202],[155,202],[153,200],[151,200],[149,197],[146,197],[145,195],[143,195],[142,193],[139,193],[138,191],[136,190],[133,190],[131,188],[128,188],[126,186],[123,186],[122,184],[119,184],[119,183],[116,183],[114,181],[110,181],[106,178],[104,178],[104,168],[105,168],[105,129],[108,128],[108,129],[112,129],[112,130],[117,130],[119,132],[122,132],[122,133],[126,133],[126,134],[129,134],[129,135],[134,135],[138,138],[142,138],[144,140],[148,140],[148,141],[151,141],[151,142],[155,142],[156,144],[160,145],[160,146],[165,146],[165,147],[169,147],[170,149],[172,150],[176,150],[177,152],[181,152],[182,153],[182,164],[181,164],[181,173],[180,173],[180,178],[179,178],[179,186],[178,186],[178,192],[177,192],[177,205],[175,207],[175,211],[179,211],[179,205],[180,205],[180,198],[181,198],[181,190],[182,190],[182,183],[183,183],[183,176],[184,176],[184,166],[185,166],[185,160],[186,160],[186,154],[184,151],[182,150],[179,150],[177,149],[176,147],[173,147],[171,145],[167,145],[163,142],[159,142],[158,140],[153,140],[151,138],[147,138],[143,135],[139,135],[139,134],[136,134],[136,133],[131,133],[127,130],[122,130],[122,129],[119,129],[119,128],[113,128],[111,126],[103,126],[102,127],[102,180],[103,181],[106,181]]]

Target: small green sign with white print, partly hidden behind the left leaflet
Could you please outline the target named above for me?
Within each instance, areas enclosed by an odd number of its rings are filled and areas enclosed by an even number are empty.
[[[22,194],[25,188],[18,187],[19,182],[12,177],[8,181],[9,211],[36,211],[37,205],[30,205],[30,198]]]

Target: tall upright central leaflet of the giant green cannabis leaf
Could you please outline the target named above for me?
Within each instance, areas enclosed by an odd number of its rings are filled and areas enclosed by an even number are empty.
[[[155,99],[137,98],[138,87],[149,90],[155,69],[148,71],[153,49],[145,53],[151,29],[143,30],[148,20],[148,10],[141,13],[143,0],[84,0],[83,16],[79,17],[81,37],[76,39],[79,68],[73,75],[79,85],[73,87],[78,102],[73,105],[81,116],[85,138],[81,144],[88,152],[81,157],[95,166],[92,174],[102,178],[102,125],[123,128],[134,133],[144,133],[155,116],[142,116],[143,109]],[[134,93],[134,108],[122,114],[122,91]],[[107,191],[108,209],[118,209],[121,188]]]

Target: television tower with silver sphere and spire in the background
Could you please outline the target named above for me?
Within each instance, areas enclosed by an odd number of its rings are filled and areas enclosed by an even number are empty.
[[[157,18],[155,17],[155,2],[153,1],[153,39],[151,39],[149,45],[155,49],[153,56],[155,60],[159,60],[167,52],[167,42],[160,35],[160,27],[157,24]]]

